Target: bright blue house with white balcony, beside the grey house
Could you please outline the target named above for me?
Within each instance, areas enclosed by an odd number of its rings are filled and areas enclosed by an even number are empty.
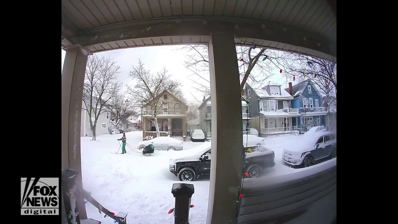
[[[328,111],[322,106],[322,96],[311,81],[302,81],[293,86],[289,83],[289,88],[285,90],[293,96],[291,107],[298,108],[300,113],[300,117],[292,121],[293,124],[297,124],[300,133],[305,133],[314,126],[326,124]]]

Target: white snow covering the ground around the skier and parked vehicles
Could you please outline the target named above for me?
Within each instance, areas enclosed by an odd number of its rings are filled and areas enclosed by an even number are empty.
[[[119,148],[117,135],[101,135],[97,141],[91,137],[82,137],[82,175],[86,191],[92,193],[105,208],[111,212],[127,212],[128,223],[135,224],[172,224],[174,217],[167,214],[174,207],[171,193],[173,183],[179,183],[168,169],[169,159],[173,153],[180,151],[158,151],[152,155],[135,153],[126,147],[127,154],[113,154]],[[136,146],[142,140],[142,132],[127,132],[127,143]],[[297,172],[283,164],[283,143],[294,137],[266,138],[265,145],[275,150],[275,167],[269,168],[261,178]],[[183,143],[184,150],[189,150],[202,142]],[[119,151],[121,152],[121,150]],[[195,186],[189,219],[194,224],[205,224],[207,201],[209,199],[209,177],[200,177],[189,182]],[[103,224],[113,224],[109,217],[91,204],[86,204],[89,218],[100,220]]]

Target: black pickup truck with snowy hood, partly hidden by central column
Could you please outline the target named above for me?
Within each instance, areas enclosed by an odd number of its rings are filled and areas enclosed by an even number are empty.
[[[259,177],[261,170],[275,166],[274,151],[246,153],[246,172],[249,178]],[[210,175],[211,142],[174,155],[169,161],[169,170],[180,181],[194,181],[201,175]]]

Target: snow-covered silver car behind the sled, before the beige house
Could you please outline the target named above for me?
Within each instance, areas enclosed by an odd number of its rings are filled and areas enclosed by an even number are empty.
[[[176,140],[171,137],[156,137],[151,140],[141,141],[138,143],[138,148],[140,150],[144,149],[147,145],[152,144],[155,150],[182,150],[183,141]]]

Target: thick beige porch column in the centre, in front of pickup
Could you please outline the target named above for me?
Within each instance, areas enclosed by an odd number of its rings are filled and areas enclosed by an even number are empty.
[[[242,103],[234,37],[211,33],[211,175],[207,224],[232,223],[242,175]]]

